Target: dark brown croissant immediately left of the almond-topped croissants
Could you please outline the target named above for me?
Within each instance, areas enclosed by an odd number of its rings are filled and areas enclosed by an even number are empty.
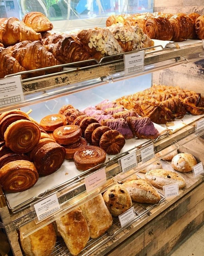
[[[72,37],[65,37],[56,44],[46,45],[46,48],[63,64],[92,59],[82,44]]]

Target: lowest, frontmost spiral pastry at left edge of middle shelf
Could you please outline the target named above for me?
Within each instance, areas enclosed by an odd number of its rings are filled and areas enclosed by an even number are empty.
[[[6,192],[21,192],[31,188],[38,180],[34,164],[27,160],[6,163],[0,169],[0,184]]]

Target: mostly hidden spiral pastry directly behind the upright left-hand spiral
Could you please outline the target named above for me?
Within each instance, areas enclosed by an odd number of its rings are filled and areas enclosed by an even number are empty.
[[[6,131],[7,127],[17,120],[29,120],[28,117],[23,116],[21,114],[10,114],[6,115],[0,121],[0,138],[4,138],[4,132]]]

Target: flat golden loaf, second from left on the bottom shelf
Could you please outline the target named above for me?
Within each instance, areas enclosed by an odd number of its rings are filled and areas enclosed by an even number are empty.
[[[56,219],[57,229],[72,255],[78,255],[89,240],[87,221],[78,207]]]

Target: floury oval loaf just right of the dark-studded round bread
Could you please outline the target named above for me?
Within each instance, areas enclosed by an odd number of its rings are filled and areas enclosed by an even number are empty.
[[[137,179],[126,181],[123,186],[127,189],[131,199],[139,203],[158,203],[159,193],[146,180]]]

